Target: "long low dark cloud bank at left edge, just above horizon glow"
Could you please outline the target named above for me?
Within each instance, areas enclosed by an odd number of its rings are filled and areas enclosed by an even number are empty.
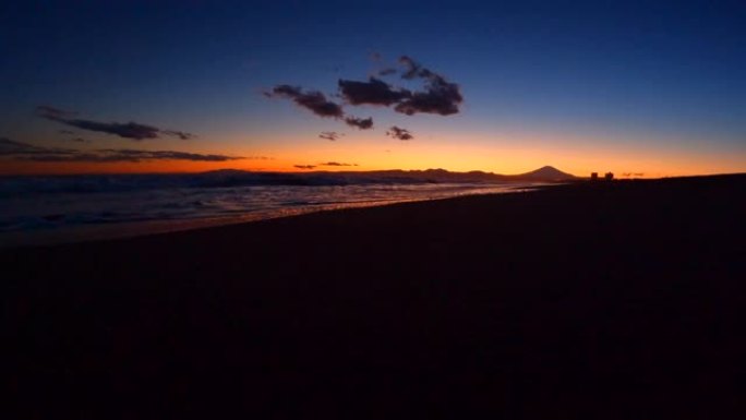
[[[209,155],[175,151],[140,151],[131,148],[100,148],[80,151],[35,146],[28,143],[0,139],[0,157],[14,160],[31,161],[147,161],[147,160],[192,160],[192,161],[228,161],[244,159],[241,156]]]

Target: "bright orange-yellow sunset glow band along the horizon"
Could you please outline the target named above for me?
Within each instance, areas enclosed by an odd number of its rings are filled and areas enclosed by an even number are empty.
[[[697,147],[646,149],[639,144],[615,142],[621,146],[599,146],[590,137],[534,134],[516,135],[442,133],[401,142],[378,135],[356,133],[337,142],[318,139],[279,139],[263,143],[240,137],[216,142],[208,153],[238,156],[267,156],[265,159],[229,161],[154,160],[141,163],[37,163],[0,161],[1,175],[147,173],[201,172],[217,169],[255,171],[308,171],[296,165],[315,166],[313,170],[482,170],[503,175],[528,172],[545,165],[579,177],[590,172],[643,173],[636,178],[711,175],[746,171],[743,156],[707,153]],[[551,139],[551,140],[546,140]],[[246,147],[246,143],[254,143]],[[257,144],[258,143],[258,144]],[[204,151],[203,151],[204,152]],[[325,166],[324,163],[350,166]]]

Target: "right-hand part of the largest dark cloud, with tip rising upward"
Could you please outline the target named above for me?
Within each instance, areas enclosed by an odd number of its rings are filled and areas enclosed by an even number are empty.
[[[399,62],[405,67],[402,79],[423,79],[425,86],[423,92],[413,92],[399,103],[394,108],[397,112],[408,116],[419,112],[449,116],[459,112],[458,106],[464,101],[464,97],[456,83],[449,83],[442,75],[423,68],[407,56],[402,56]]]

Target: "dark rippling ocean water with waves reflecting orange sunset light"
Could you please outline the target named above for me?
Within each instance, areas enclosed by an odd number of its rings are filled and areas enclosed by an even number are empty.
[[[0,178],[0,247],[132,237],[347,207],[507,193],[539,183],[406,172]]]

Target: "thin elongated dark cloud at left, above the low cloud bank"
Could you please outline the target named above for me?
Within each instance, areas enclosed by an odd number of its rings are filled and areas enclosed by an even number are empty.
[[[107,134],[119,135],[124,139],[132,140],[145,140],[145,139],[157,139],[158,134],[178,136],[180,139],[186,140],[194,137],[194,134],[184,133],[182,131],[173,130],[160,130],[158,128],[141,124],[137,122],[99,122],[92,120],[83,120],[77,118],[71,118],[71,116],[76,115],[76,112],[63,111],[49,106],[38,106],[36,107],[37,116],[46,118],[51,121],[57,121],[62,124],[70,127],[75,127],[77,129],[97,131]]]

